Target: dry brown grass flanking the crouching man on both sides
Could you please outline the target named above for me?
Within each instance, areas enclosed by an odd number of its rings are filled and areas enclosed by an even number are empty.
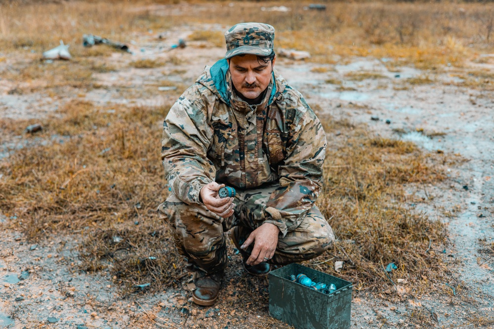
[[[89,102],[68,103],[42,120],[45,129],[37,135],[46,140],[66,136],[63,143],[23,148],[1,162],[4,215],[17,216],[11,225],[32,240],[55,231],[82,234],[83,268],[112,264],[124,293],[142,283],[153,283],[153,290],[173,284],[183,275],[183,263],[155,211],[167,193],[159,159],[167,109],[108,113]],[[411,143],[372,137],[348,122],[322,120],[329,134],[338,130],[348,136],[329,147],[326,187],[318,200],[338,237],[327,257],[345,261],[338,275],[358,290],[378,291],[391,285],[382,266],[394,261],[399,269],[393,278],[424,275],[432,285],[447,269],[427,246],[432,241],[433,248],[440,248],[446,231],[440,221],[404,207],[402,186],[444,179],[439,165],[448,158],[423,154]],[[1,127],[22,134],[26,123],[2,120]],[[318,264],[322,260],[310,265],[332,273],[332,262]]]

